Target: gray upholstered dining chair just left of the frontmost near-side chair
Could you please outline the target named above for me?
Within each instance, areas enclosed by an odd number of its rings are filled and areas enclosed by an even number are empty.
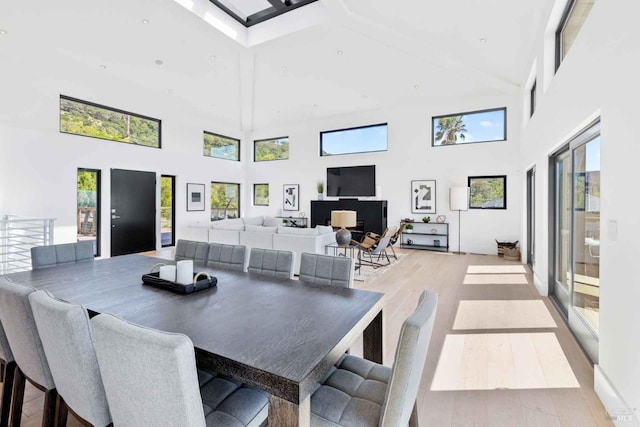
[[[60,396],[58,426],[66,425],[69,409],[92,426],[110,425],[111,414],[87,311],[81,305],[58,300],[47,291],[32,293],[29,301]]]

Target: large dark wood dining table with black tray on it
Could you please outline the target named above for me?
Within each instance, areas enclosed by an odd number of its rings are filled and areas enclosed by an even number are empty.
[[[156,263],[173,261],[125,255],[4,277],[94,313],[187,335],[199,366],[270,393],[270,425],[309,425],[311,394],[361,334],[364,357],[382,363],[380,293],[196,265],[217,286],[176,294],[142,283]]]

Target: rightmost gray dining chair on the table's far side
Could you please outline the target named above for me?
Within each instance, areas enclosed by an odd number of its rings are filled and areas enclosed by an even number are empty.
[[[304,252],[300,257],[300,281],[318,285],[351,288],[354,260],[346,256],[318,255]]]

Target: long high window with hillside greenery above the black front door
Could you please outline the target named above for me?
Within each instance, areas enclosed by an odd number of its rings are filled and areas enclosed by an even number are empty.
[[[160,148],[160,120],[60,95],[60,132]]]

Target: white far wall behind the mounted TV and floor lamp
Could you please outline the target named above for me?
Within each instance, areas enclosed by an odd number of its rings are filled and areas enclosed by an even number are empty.
[[[270,184],[270,206],[251,207],[250,215],[276,215],[282,208],[282,186],[300,184],[300,210],[310,215],[311,200],[317,199],[316,182],[326,181],[326,168],[376,165],[376,184],[381,199],[388,201],[388,225],[400,219],[424,215],[411,213],[412,180],[435,179],[437,214],[446,215],[450,225],[450,250],[457,250],[458,213],[449,210],[449,188],[466,186],[468,176],[507,175],[506,210],[462,212],[461,248],[468,252],[497,253],[495,239],[518,240],[521,234],[522,194],[519,166],[520,111],[515,98],[438,99],[411,106],[381,109],[355,115],[308,121],[297,126],[274,127],[254,132],[257,139],[288,135],[290,159],[263,162],[248,170],[247,184]],[[459,146],[431,146],[431,117],[436,115],[508,107],[508,141]],[[386,152],[319,157],[320,132],[376,123],[388,123]],[[245,206],[251,204],[251,195]],[[296,216],[297,212],[284,212]]]

